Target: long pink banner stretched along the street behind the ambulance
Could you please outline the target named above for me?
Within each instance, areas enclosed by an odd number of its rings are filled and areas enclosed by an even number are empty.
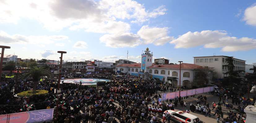
[[[199,94],[199,93],[207,93],[207,92],[211,92],[211,91],[214,91],[214,86],[180,91],[180,96],[186,97],[186,96],[191,96],[191,95],[195,95],[195,94]],[[179,91],[171,92],[171,93],[162,93],[163,101],[165,101],[167,99],[174,99],[175,97],[179,97]]]

